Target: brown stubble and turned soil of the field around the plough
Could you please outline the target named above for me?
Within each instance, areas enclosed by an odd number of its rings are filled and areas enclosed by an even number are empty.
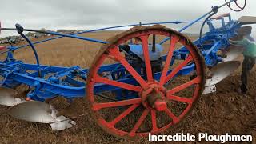
[[[122,31],[102,31],[82,34],[82,36],[106,40],[120,32]],[[100,46],[101,44],[94,42],[59,38],[38,44],[36,49],[43,65],[75,65],[86,68],[90,67],[94,56],[100,50]],[[16,50],[14,57],[23,62],[35,63],[34,54],[28,47]],[[242,56],[238,57],[238,60],[242,62]],[[238,93],[241,71],[242,68],[240,67],[234,74],[219,82],[216,93],[202,95],[190,116],[174,130],[169,130],[165,134],[181,132],[196,135],[200,132],[208,134],[253,134],[256,138],[256,66],[249,77],[249,94],[247,97]],[[22,87],[20,90],[22,91]],[[66,105],[62,98],[54,99],[53,103],[57,109]],[[77,105],[75,111],[78,114],[78,117],[75,118],[77,126],[57,132],[52,131],[50,125],[47,124],[24,122],[10,118],[6,114],[8,108],[0,106],[0,143],[128,142],[107,134],[96,125],[94,119],[90,117],[84,99],[75,100],[74,104]],[[147,139],[141,139],[137,142],[147,142]]]

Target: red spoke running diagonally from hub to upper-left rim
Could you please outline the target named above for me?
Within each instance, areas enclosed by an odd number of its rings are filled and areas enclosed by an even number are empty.
[[[130,66],[129,62],[126,61],[126,58],[120,54],[118,47],[114,47],[113,49],[110,49],[110,55],[114,57],[118,62],[122,64],[126,68],[126,70],[135,78],[135,80],[143,87],[147,87],[146,81],[137,73],[136,70],[132,66]]]

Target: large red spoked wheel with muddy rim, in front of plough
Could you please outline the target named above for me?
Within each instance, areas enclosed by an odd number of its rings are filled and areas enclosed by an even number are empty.
[[[169,43],[164,46],[166,60],[162,62],[161,71],[155,73],[152,72],[154,67],[150,62],[151,35],[170,38],[170,41],[167,41]],[[118,46],[129,42],[132,38],[139,38],[141,41],[145,76],[140,75],[138,70],[126,60],[122,50],[119,50]],[[188,54],[178,62],[173,62],[177,43],[186,46]],[[126,74],[130,74],[137,83],[118,82],[102,77],[99,68],[108,61],[106,59],[121,63],[126,69]],[[190,66],[194,66],[193,78],[190,74],[187,76],[179,74]],[[202,94],[205,78],[204,58],[186,36],[159,25],[136,26],[111,38],[108,44],[102,46],[102,50],[90,67],[86,82],[86,97],[92,116],[106,132],[122,138],[147,137],[149,133],[162,133],[178,125],[190,113]],[[102,83],[132,91],[138,94],[138,97],[119,101],[104,100],[94,94],[94,86]]]

